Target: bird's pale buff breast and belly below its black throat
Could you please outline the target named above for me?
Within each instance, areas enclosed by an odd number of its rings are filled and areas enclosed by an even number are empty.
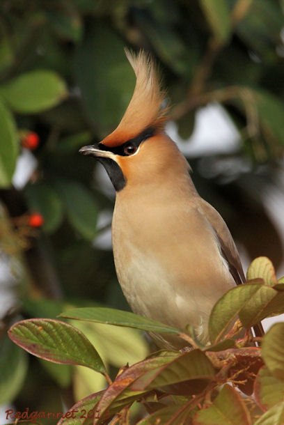
[[[113,254],[118,280],[134,312],[181,330],[194,325],[206,342],[214,303],[235,286],[206,218],[209,211],[233,249],[235,245],[223,219],[198,196],[189,176],[180,180],[180,187],[171,180],[156,185],[129,185],[117,194]],[[163,335],[161,341],[167,348],[182,346],[175,337]]]

